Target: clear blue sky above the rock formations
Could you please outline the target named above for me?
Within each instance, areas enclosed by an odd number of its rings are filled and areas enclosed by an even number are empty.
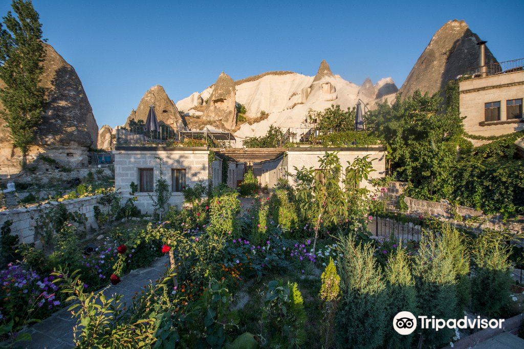
[[[322,59],[361,84],[400,87],[447,20],[464,19],[499,61],[524,57],[523,1],[33,0],[44,36],[76,70],[99,126],[122,124],[143,94],[175,102],[269,70],[313,75]],[[0,1],[0,13],[10,9]]]

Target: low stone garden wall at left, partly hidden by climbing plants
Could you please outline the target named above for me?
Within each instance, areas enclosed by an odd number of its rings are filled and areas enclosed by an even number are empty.
[[[68,212],[84,214],[86,218],[85,227],[89,230],[90,228],[98,228],[93,208],[96,205],[100,206],[97,200],[102,196],[94,195],[87,198],[64,200],[61,203],[65,205]],[[40,247],[40,241],[35,236],[36,220],[42,213],[49,211],[58,204],[56,201],[50,201],[43,205],[0,211],[0,226],[3,226],[7,220],[12,221],[11,234],[18,235],[20,243],[35,243],[37,247]],[[83,228],[83,226],[79,228]]]

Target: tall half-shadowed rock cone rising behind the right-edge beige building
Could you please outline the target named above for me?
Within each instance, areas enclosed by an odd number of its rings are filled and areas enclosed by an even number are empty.
[[[400,88],[402,97],[416,90],[435,93],[468,68],[478,67],[479,37],[463,20],[450,20],[433,36]],[[486,64],[497,60],[486,47]]]

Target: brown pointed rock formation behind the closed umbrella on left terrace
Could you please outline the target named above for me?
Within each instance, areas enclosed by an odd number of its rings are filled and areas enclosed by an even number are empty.
[[[140,103],[138,103],[136,111],[131,111],[127,117],[126,126],[132,119],[135,119],[135,121],[143,120],[145,122],[150,105],[155,106],[155,112],[160,124],[163,123],[171,127],[177,127],[180,122],[183,122],[177,106],[171,101],[163,87],[156,85],[144,94]]]

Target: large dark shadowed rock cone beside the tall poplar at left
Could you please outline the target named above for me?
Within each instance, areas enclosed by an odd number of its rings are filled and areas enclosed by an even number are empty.
[[[88,149],[96,147],[98,137],[93,110],[74,68],[52,46],[43,45],[46,57],[40,84],[46,89],[47,103],[28,161],[45,152],[64,165],[87,165]],[[0,139],[0,173],[19,172],[21,154],[10,141],[10,130],[2,118]]]

